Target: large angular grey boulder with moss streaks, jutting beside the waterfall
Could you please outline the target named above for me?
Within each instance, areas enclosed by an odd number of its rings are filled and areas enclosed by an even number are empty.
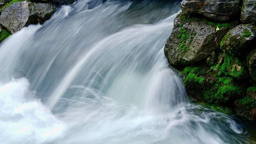
[[[165,44],[165,55],[171,65],[188,65],[207,58],[218,49],[226,27],[180,13],[174,20],[171,36]]]

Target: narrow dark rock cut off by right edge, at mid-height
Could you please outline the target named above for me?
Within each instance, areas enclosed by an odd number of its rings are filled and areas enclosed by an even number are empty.
[[[256,81],[256,49],[253,49],[247,55],[247,67],[249,69],[251,78]]]

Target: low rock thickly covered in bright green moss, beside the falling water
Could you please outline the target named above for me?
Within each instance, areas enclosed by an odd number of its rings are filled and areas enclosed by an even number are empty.
[[[238,80],[207,66],[186,67],[182,70],[182,78],[189,95],[208,103],[233,103],[244,95],[244,86]]]

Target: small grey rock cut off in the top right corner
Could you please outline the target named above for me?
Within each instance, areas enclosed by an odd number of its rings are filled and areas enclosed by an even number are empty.
[[[256,24],[256,3],[254,0],[243,0],[241,21]]]

